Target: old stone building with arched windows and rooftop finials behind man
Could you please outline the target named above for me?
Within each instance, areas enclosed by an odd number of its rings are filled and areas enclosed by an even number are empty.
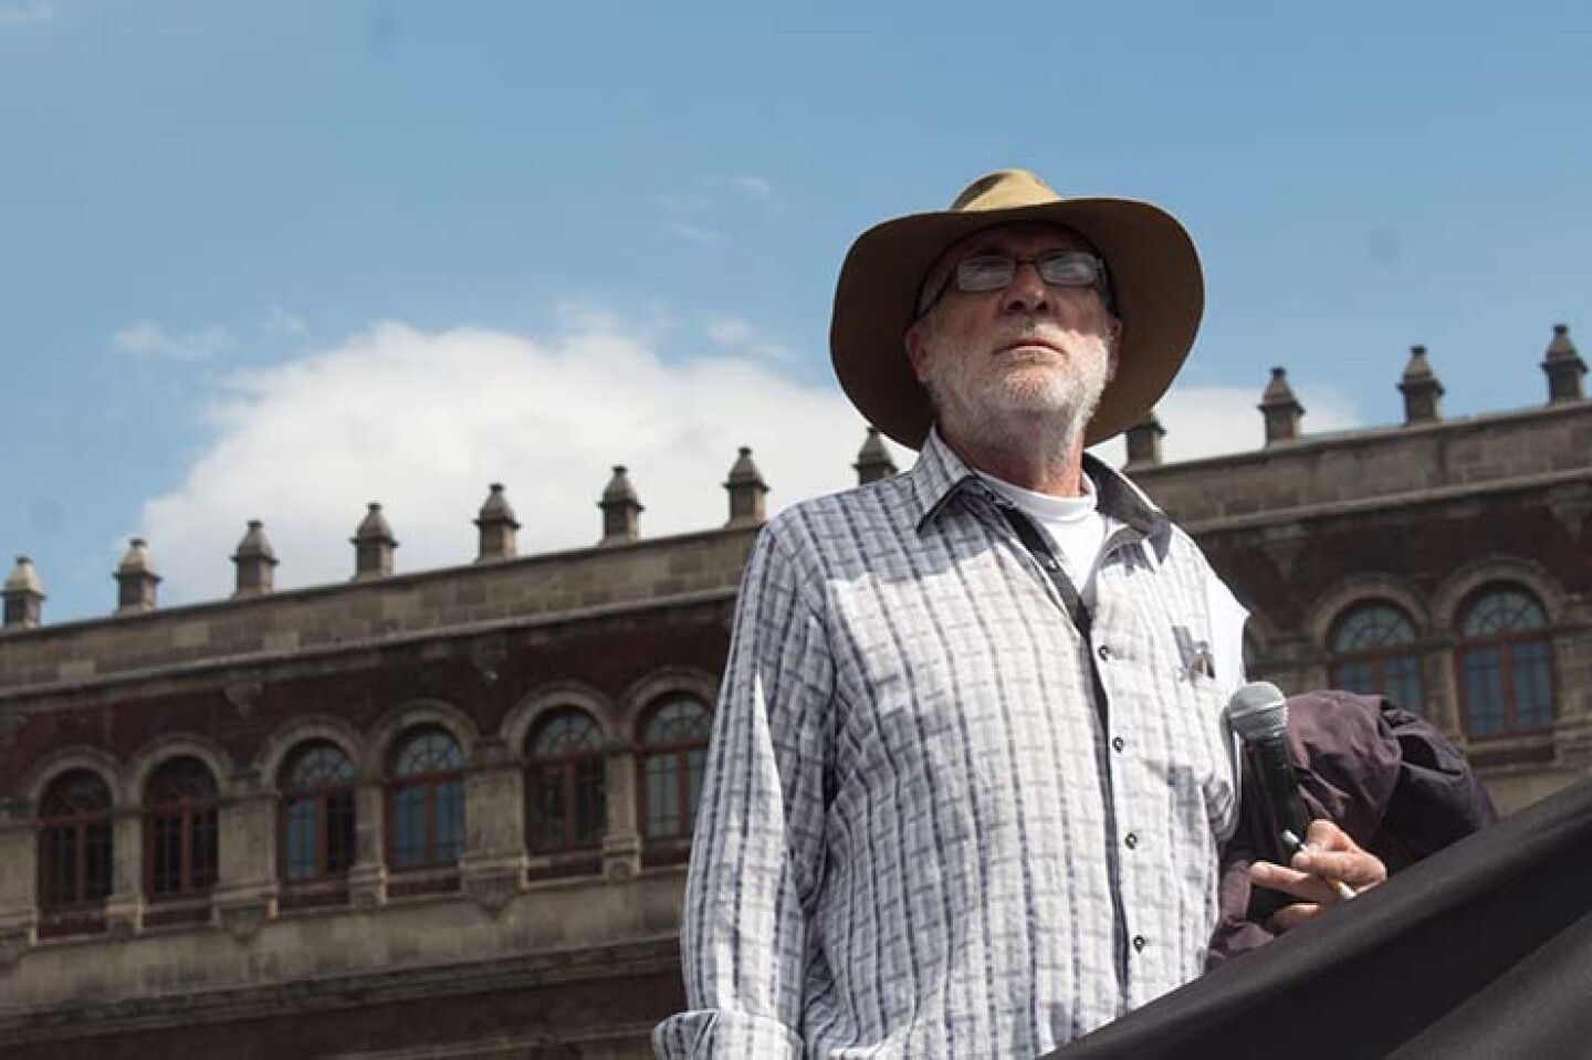
[[[1264,446],[1129,471],[1251,608],[1253,675],[1385,689],[1501,807],[1592,772],[1592,403],[1557,328],[1541,406],[1444,420],[1415,349],[1398,427],[1310,436],[1275,369]],[[895,471],[877,435],[861,482]],[[683,1004],[678,902],[736,586],[724,527],[517,555],[501,487],[476,563],[274,590],[250,524],[231,600],[162,610],[134,541],[105,619],[43,622],[21,559],[0,632],[0,1055],[441,1060],[648,1055]]]

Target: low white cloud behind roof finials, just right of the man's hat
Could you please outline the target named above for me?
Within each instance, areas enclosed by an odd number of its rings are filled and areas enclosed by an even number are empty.
[[[1334,390],[1313,384],[1293,384],[1299,403],[1307,412],[1301,422],[1305,435],[1348,430],[1360,425],[1352,401]],[[1261,387],[1178,387],[1156,406],[1156,417],[1165,428],[1161,439],[1161,457],[1199,460],[1229,452],[1259,449],[1266,441],[1266,427],[1259,411]],[[1127,444],[1121,438],[1095,446],[1092,450],[1113,466],[1127,460]]]

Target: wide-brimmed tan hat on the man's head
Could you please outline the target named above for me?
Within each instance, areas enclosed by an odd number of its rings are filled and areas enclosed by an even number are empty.
[[[1094,244],[1122,322],[1116,376],[1084,431],[1084,444],[1140,422],[1194,345],[1205,282],[1194,240],[1175,216],[1135,199],[1062,199],[1033,173],[981,177],[949,210],[895,218],[863,232],[841,266],[829,355],[841,387],[868,422],[917,449],[933,412],[907,360],[904,336],[917,317],[928,271],[958,239],[993,224],[1060,224]]]

